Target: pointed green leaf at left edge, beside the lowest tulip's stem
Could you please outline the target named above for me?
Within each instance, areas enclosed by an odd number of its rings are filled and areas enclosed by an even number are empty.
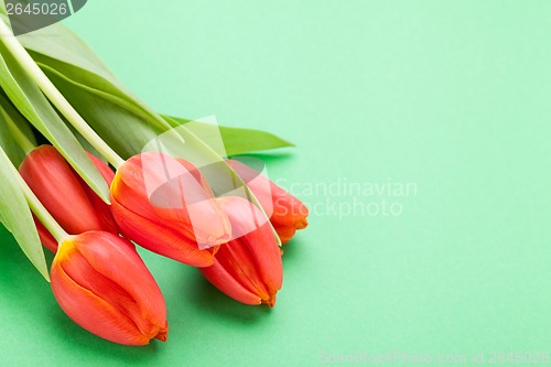
[[[6,152],[0,149],[0,214],[6,225],[29,260],[50,280],[44,250],[31,215],[31,209],[21,190],[18,171]]]

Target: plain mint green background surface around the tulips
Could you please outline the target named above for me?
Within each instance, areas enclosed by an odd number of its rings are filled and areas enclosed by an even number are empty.
[[[2,229],[0,364],[549,353],[550,19],[543,0],[89,0],[65,23],[152,107],[296,143],[264,158],[310,227],[273,310],[143,252],[171,333],[142,348],[74,325]],[[342,192],[389,183],[415,191]],[[374,214],[382,199],[401,213]]]

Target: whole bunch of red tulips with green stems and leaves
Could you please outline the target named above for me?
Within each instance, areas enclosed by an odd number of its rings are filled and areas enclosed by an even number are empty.
[[[0,87],[0,220],[74,322],[115,343],[166,341],[163,295],[136,245],[239,302],[274,305],[280,246],[307,209],[228,156],[289,142],[160,115],[66,28],[15,37],[1,7]]]

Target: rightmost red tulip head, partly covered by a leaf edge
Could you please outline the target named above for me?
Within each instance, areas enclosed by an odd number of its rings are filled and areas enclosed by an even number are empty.
[[[247,183],[260,205],[267,211],[270,223],[278,233],[281,242],[289,242],[296,229],[306,228],[309,209],[300,199],[248,165],[236,160],[227,162]]]

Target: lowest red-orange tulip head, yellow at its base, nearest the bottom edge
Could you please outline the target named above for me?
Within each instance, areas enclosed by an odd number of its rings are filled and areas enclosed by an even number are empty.
[[[60,245],[51,270],[62,310],[78,325],[125,345],[168,337],[166,306],[132,244],[87,231]]]

